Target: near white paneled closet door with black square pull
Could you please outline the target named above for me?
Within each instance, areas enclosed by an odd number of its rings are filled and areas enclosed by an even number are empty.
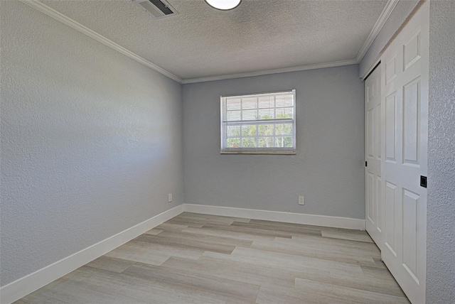
[[[381,58],[382,259],[411,303],[425,303],[429,1]]]

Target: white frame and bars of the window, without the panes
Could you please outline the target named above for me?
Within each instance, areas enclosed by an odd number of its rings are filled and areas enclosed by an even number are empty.
[[[228,148],[225,147],[226,141],[228,136],[226,134],[227,128],[223,128],[223,118],[225,117],[225,107],[224,102],[227,101],[228,98],[232,97],[240,97],[240,98],[248,98],[248,97],[257,97],[258,95],[279,95],[279,94],[291,94],[293,97],[293,114],[292,114],[292,146],[291,147],[272,147],[272,148]],[[258,108],[256,108],[258,109]],[[274,104],[274,109],[276,109],[276,104]],[[239,125],[259,125],[260,122],[263,124],[276,124],[273,121],[280,121],[280,119],[269,119],[269,120],[261,120],[255,119],[251,120],[251,122],[240,122]],[[289,121],[288,121],[289,122]],[[240,136],[242,137],[242,136]],[[277,136],[272,136],[274,139]],[[258,136],[254,137],[258,138]],[[296,90],[289,89],[284,91],[275,91],[275,92],[262,92],[262,93],[254,93],[254,94],[236,94],[236,95],[222,95],[220,96],[220,154],[287,154],[287,155],[295,155],[296,154]]]

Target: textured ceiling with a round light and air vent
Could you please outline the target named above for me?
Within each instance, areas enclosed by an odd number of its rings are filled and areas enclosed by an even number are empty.
[[[183,80],[353,60],[387,3],[168,0],[178,15],[154,19],[131,0],[42,2]]]

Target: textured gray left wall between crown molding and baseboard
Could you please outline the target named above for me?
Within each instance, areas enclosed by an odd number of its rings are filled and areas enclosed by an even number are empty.
[[[0,6],[4,286],[181,204],[183,142],[181,85]]]

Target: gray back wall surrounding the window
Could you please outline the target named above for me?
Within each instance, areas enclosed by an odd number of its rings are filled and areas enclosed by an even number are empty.
[[[284,89],[297,154],[220,155],[220,95]],[[358,65],[183,85],[185,202],[364,219],[363,111]]]

